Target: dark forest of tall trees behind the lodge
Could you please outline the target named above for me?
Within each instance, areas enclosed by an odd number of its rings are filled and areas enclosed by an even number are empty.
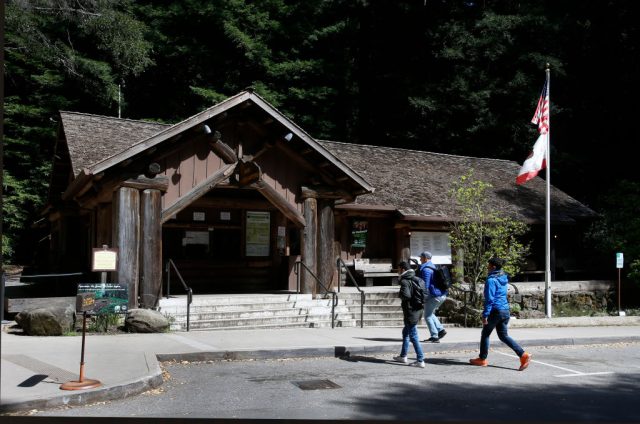
[[[640,281],[633,0],[7,0],[3,263],[42,234],[60,110],[179,122],[249,87],[312,136],[522,163],[551,67],[551,182]],[[540,174],[545,177],[545,172]],[[514,179],[515,175],[509,176]],[[634,265],[635,264],[635,265]]]

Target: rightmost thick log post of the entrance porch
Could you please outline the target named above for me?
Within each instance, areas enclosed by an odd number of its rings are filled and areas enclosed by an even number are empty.
[[[327,289],[331,289],[336,261],[334,253],[335,220],[333,200],[318,201],[318,278]]]

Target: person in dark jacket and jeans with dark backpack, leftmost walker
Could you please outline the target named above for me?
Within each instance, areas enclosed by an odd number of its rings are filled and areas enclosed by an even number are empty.
[[[416,351],[416,361],[409,365],[424,368],[424,353],[418,337],[418,323],[422,319],[424,302],[424,281],[416,277],[409,264],[402,261],[398,264],[400,274],[400,299],[402,314],[404,315],[404,327],[402,328],[402,349],[400,356],[394,356],[393,360],[406,364],[409,342]]]

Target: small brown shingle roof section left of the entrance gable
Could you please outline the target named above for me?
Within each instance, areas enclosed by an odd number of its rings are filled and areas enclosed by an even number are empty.
[[[74,176],[78,176],[83,168],[113,156],[170,126],[77,112],[60,112],[60,116]]]

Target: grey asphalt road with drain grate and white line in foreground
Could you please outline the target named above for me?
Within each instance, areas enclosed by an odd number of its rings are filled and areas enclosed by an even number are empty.
[[[496,346],[498,347],[498,346]],[[639,422],[640,343],[439,352],[424,369],[392,354],[164,363],[165,383],[122,401],[33,412],[59,417]]]

